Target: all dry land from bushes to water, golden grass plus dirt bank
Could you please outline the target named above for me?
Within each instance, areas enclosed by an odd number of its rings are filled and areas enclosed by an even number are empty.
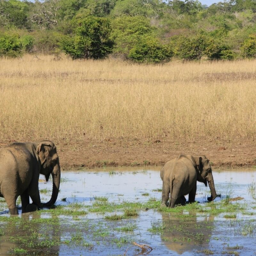
[[[52,140],[67,168],[162,164],[180,153],[256,165],[255,60],[38,57],[0,60],[2,145]]]

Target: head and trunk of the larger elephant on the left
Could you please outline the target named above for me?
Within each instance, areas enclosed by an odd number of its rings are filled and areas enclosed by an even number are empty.
[[[44,206],[51,206],[57,200],[60,188],[60,163],[57,150],[52,141],[41,141],[37,143],[36,152],[40,159],[40,173],[45,175],[48,181],[52,174],[52,197],[49,202],[44,203]]]

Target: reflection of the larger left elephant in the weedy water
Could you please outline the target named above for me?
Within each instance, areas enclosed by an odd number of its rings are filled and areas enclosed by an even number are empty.
[[[28,212],[20,217],[10,217],[7,223],[1,224],[4,235],[0,236],[0,255],[15,254],[15,250],[29,255],[59,255],[59,218],[51,215],[45,217],[42,218],[40,212]]]

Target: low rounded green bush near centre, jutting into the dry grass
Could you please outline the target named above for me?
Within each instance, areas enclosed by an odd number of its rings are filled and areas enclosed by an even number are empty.
[[[128,58],[139,63],[162,63],[170,61],[173,52],[167,45],[163,45],[158,39],[142,37],[128,55]]]

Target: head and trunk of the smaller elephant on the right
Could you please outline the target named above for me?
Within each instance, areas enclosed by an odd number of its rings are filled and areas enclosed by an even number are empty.
[[[208,182],[209,188],[211,190],[211,196],[208,197],[207,200],[213,201],[217,194],[215,191],[211,165],[205,156],[198,156],[196,158],[196,164],[198,168],[197,180],[204,182],[205,186],[207,186]]]

